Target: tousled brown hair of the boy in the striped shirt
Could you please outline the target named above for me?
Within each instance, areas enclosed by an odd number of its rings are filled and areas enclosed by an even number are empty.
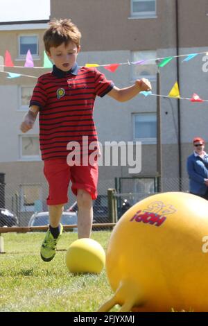
[[[65,46],[69,42],[74,42],[76,46],[80,45],[81,33],[77,26],[71,22],[71,19],[54,19],[49,23],[49,28],[44,33],[44,46],[46,51],[50,51],[51,47]]]

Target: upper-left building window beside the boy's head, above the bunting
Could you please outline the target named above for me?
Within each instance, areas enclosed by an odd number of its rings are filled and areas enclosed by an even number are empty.
[[[34,57],[38,57],[38,37],[37,35],[21,35],[19,36],[19,57],[25,57],[28,50]]]

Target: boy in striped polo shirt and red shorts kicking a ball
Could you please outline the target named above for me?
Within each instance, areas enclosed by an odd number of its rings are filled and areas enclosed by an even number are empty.
[[[151,85],[142,78],[135,85],[119,89],[105,75],[94,68],[78,67],[80,31],[70,19],[49,23],[44,33],[44,46],[53,61],[53,71],[40,76],[34,88],[28,113],[21,123],[21,131],[27,132],[40,112],[40,150],[44,160],[44,175],[49,182],[50,225],[41,247],[41,257],[51,261],[55,247],[62,234],[60,218],[67,203],[69,181],[77,196],[78,237],[90,237],[92,230],[92,199],[96,199],[98,164],[67,164],[70,141],[80,144],[84,155],[83,137],[89,142],[97,141],[93,121],[96,95],[105,94],[116,101],[128,101],[141,91],[148,91]],[[71,148],[72,149],[72,148]],[[89,153],[88,153],[89,155]]]

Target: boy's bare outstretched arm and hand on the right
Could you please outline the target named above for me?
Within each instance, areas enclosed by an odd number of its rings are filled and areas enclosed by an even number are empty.
[[[114,88],[107,93],[110,97],[114,98],[116,101],[125,102],[129,101],[131,98],[135,97],[139,92],[150,91],[152,86],[148,79],[141,78],[135,81],[135,85],[125,88]]]

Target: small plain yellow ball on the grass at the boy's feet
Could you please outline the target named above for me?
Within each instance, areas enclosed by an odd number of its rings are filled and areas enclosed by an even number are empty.
[[[71,273],[101,273],[105,267],[105,251],[100,243],[89,238],[71,243],[66,254]]]

